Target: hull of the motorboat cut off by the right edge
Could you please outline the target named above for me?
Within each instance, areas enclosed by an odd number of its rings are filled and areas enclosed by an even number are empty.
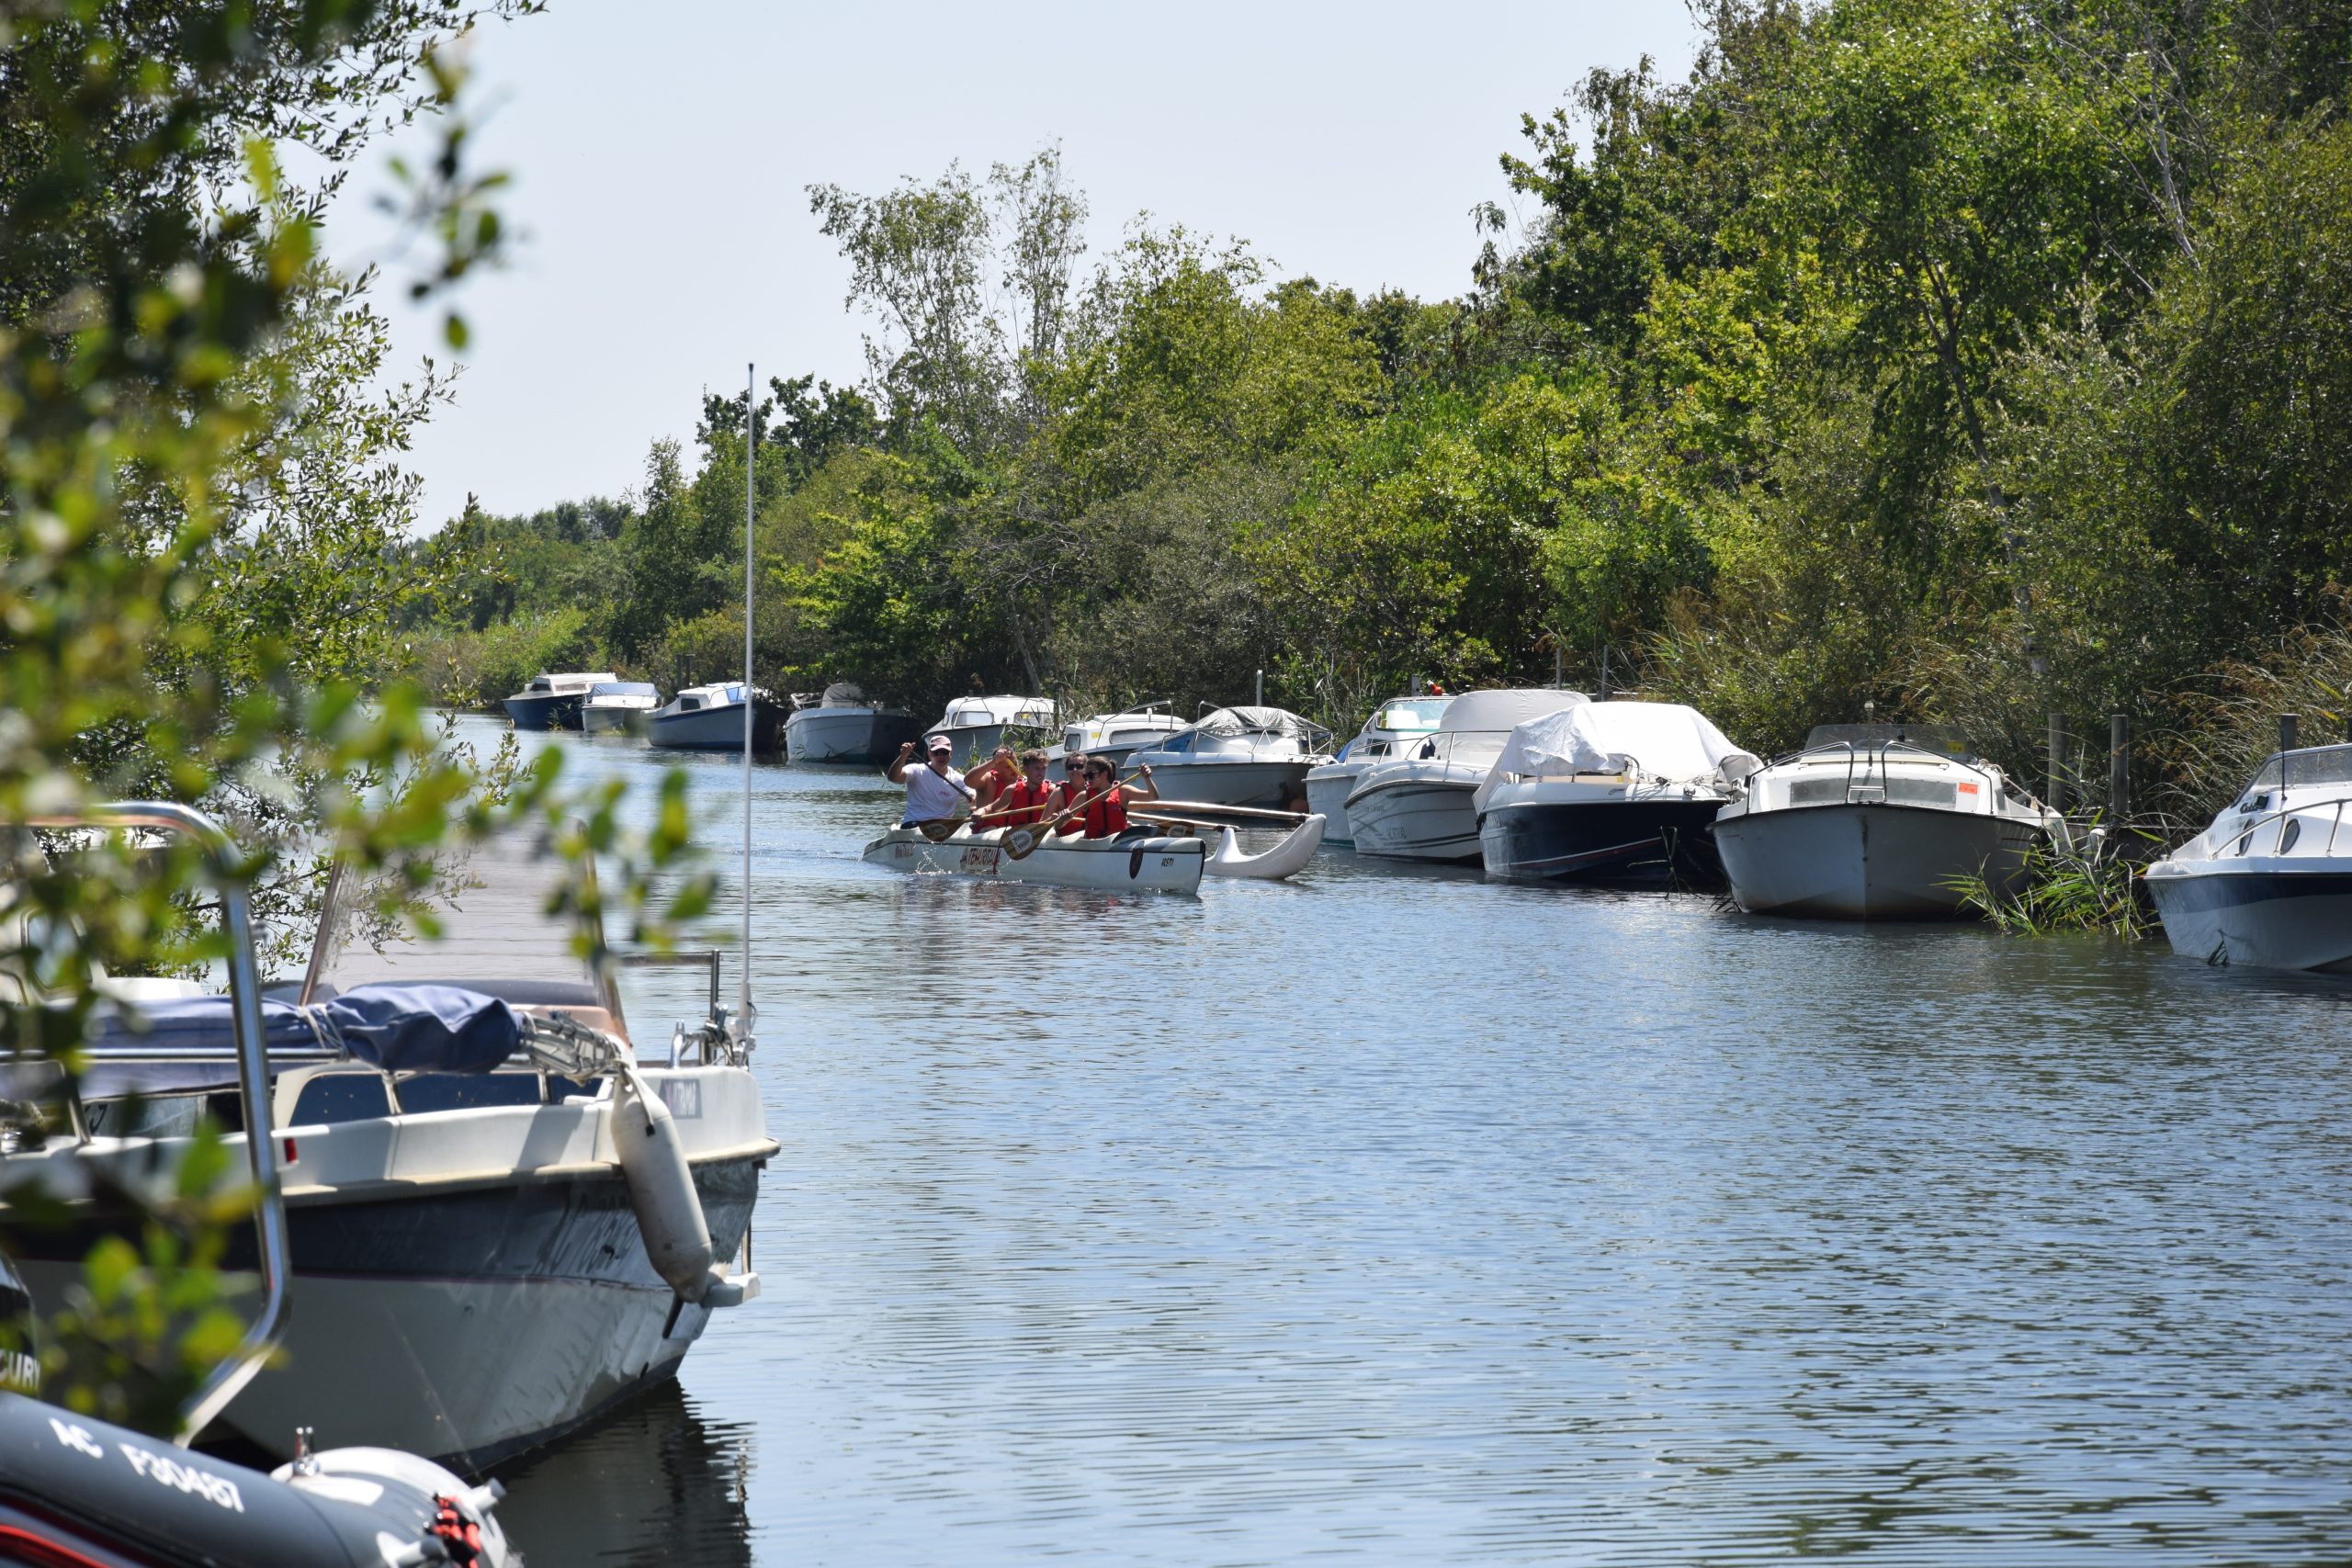
[[[2192,959],[2352,973],[2352,870],[2284,870],[2263,858],[2147,867],[2164,938]]]

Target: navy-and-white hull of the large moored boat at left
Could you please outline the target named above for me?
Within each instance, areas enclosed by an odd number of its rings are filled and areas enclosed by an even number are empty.
[[[774,1145],[769,1145],[771,1150]],[[767,1150],[691,1164],[715,1255],[750,1227]],[[21,1239],[19,1272],[54,1312],[103,1220]],[[423,1192],[294,1194],[280,1363],[221,1418],[289,1458],[294,1429],[480,1472],[675,1375],[710,1319],[654,1274],[619,1166]],[[228,1284],[252,1288],[238,1232]]]

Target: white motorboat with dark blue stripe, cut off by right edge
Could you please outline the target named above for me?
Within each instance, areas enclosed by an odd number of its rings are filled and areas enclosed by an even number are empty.
[[[2272,755],[2213,823],[2147,867],[2173,952],[2352,973],[2352,745]]]

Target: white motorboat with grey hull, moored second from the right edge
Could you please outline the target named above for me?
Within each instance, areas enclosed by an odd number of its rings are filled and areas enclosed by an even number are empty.
[[[2058,816],[1957,736],[1823,724],[1715,816],[1731,898],[1752,914],[1957,919],[1964,884],[2013,893]]]

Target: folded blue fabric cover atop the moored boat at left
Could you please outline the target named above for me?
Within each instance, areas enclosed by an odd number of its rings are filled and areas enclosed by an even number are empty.
[[[522,1020],[506,1001],[456,985],[355,985],[308,1009],[261,1004],[268,1051],[341,1048],[386,1072],[489,1072],[522,1044]],[[233,1086],[235,1063],[108,1063],[108,1046],[230,1048],[228,997],[186,997],[139,1006],[136,1020],[106,1018],[89,1039],[85,1098]]]

